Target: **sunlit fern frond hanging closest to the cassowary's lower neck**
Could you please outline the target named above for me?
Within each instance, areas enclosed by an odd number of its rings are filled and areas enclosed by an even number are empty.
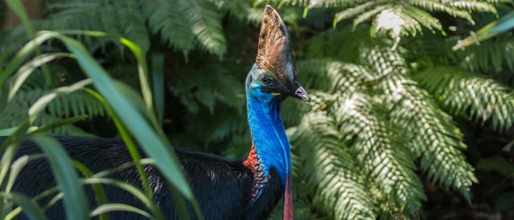
[[[299,146],[306,160],[304,172],[316,186],[316,205],[335,219],[375,219],[371,195],[342,141],[334,120],[325,112],[305,115],[291,134],[291,143]]]

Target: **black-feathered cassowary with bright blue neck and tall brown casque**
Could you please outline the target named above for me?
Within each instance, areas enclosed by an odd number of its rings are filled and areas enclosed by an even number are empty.
[[[287,96],[309,102],[305,89],[297,82],[295,54],[280,15],[266,6],[259,36],[255,64],[246,77],[248,124],[252,146],[246,161],[236,162],[201,152],[175,149],[206,219],[266,219],[284,195],[284,219],[292,219],[291,159],[280,106]],[[130,162],[123,141],[111,138],[56,137],[69,156],[93,172]],[[0,139],[3,143],[5,138]],[[30,141],[21,144],[18,156],[39,152]],[[143,155],[144,156],[144,155]],[[166,179],[153,166],[146,166],[154,200],[168,218],[178,219],[173,195]],[[135,168],[112,174],[112,178],[139,185]],[[13,191],[34,196],[55,185],[45,159],[27,164],[19,174]],[[144,205],[115,187],[104,187],[109,203],[124,203],[144,209]],[[94,193],[85,187],[91,207]],[[48,199],[41,201],[46,204]],[[195,214],[190,206],[189,216]],[[46,211],[49,219],[63,219],[58,203]],[[139,219],[132,212],[115,211],[112,219]]]

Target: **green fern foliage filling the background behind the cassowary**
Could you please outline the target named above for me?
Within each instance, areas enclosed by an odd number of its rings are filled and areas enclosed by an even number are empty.
[[[163,71],[162,132],[174,145],[243,159],[251,145],[243,83],[255,58],[262,6],[273,4],[293,39],[298,81],[312,99],[310,105],[288,99],[282,109],[292,147],[295,217],[375,219],[395,217],[393,211],[408,216],[423,213],[424,202],[431,196],[427,185],[457,191],[468,203],[476,202],[472,186],[480,177],[477,173],[494,168],[487,166],[490,159],[478,163],[478,170],[472,166],[476,163],[469,158],[469,148],[474,144],[463,121],[480,122],[495,132],[510,131],[514,123],[510,114],[514,110],[512,32],[465,50],[451,47],[476,29],[473,24],[487,24],[512,10],[511,3],[52,0],[46,17],[32,23],[36,30],[105,31],[130,39],[141,48],[139,56],[125,52],[123,38],[73,35],[94,55],[96,62],[91,63],[101,64],[130,85],[121,88],[134,87],[145,94],[150,87],[139,83],[141,76]],[[4,69],[25,36],[23,27],[0,36],[2,42],[16,42],[0,46]],[[48,42],[41,49],[66,51],[66,46]],[[31,56],[31,61],[37,62],[37,57]],[[141,74],[145,58],[154,69]],[[0,129],[20,125],[41,96],[79,82],[87,72],[87,66],[68,58],[44,63],[52,81],[46,82],[40,66],[30,67],[30,76],[11,100],[19,105],[7,106],[0,117],[9,119],[0,121]],[[6,85],[13,88],[15,82],[13,77]],[[91,120],[87,126],[65,125],[48,133],[117,136],[112,119],[119,136],[132,142],[124,132],[134,131],[120,127],[130,123],[120,123],[121,116],[113,117],[112,110],[90,94],[76,91],[57,97],[32,125],[87,114]],[[105,92],[101,95],[116,111],[114,101]],[[148,111],[152,108],[144,108],[148,95],[144,101],[137,97],[131,105],[142,106],[141,111],[150,115],[151,130],[159,131],[160,122]],[[131,102],[118,105],[126,103]],[[141,144],[141,139],[136,140]],[[166,138],[162,140],[167,143]],[[139,161],[137,155],[133,158]],[[144,182],[144,170],[140,174]],[[493,201],[508,201],[502,199]],[[498,207],[506,210],[505,205]],[[115,209],[138,211],[105,204],[93,212]],[[158,216],[158,211],[145,214]],[[279,212],[271,216],[280,217]]]

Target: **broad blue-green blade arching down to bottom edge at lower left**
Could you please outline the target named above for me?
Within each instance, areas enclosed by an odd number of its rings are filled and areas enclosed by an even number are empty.
[[[64,193],[63,200],[67,219],[88,219],[89,205],[86,201],[86,194],[66,151],[59,142],[50,137],[35,135],[32,136],[32,140],[46,154],[56,183]]]

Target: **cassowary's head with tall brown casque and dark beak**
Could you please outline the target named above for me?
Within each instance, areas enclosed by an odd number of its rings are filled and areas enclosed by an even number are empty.
[[[246,79],[247,93],[261,102],[282,101],[287,96],[309,102],[296,80],[296,58],[287,28],[271,6],[264,9],[255,65]]]

